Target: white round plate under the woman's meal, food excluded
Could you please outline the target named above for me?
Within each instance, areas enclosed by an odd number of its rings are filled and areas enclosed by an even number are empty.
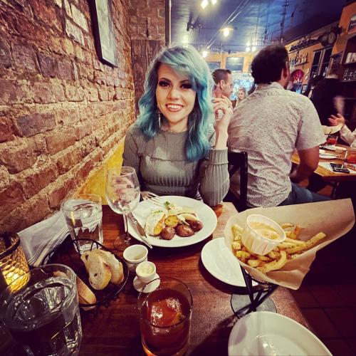
[[[202,201],[187,198],[187,197],[179,197],[175,195],[166,195],[162,197],[165,201],[169,201],[169,203],[174,203],[179,206],[189,206],[189,208],[194,209],[197,212],[197,216],[199,220],[203,223],[203,229],[196,232],[193,236],[188,237],[180,237],[175,235],[172,240],[163,240],[154,236],[147,235],[147,239],[152,246],[160,246],[160,247],[182,247],[189,246],[193,244],[197,244],[200,241],[203,241],[207,237],[209,237],[215,230],[217,219],[214,213],[214,210],[209,206],[204,204]],[[137,204],[137,207],[132,214],[135,215],[135,218],[141,224],[143,228],[145,228],[147,217],[150,215],[152,208],[157,207],[155,204],[150,201],[150,199],[140,201]],[[137,234],[137,231],[134,226],[132,226],[129,220],[129,233],[137,240],[141,241],[140,235]]]

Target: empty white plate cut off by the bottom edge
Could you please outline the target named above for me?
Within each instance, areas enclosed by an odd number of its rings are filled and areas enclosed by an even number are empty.
[[[237,355],[328,355],[328,348],[303,325],[284,315],[254,312],[232,328],[229,356]]]

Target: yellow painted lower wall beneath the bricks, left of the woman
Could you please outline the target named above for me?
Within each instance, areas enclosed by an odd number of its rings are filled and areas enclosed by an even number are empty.
[[[120,142],[117,149],[112,155],[103,162],[100,169],[95,172],[91,172],[90,176],[86,180],[80,189],[78,194],[98,194],[103,199],[103,204],[108,204],[105,198],[105,176],[109,168],[122,165],[122,153],[124,152],[124,140]]]

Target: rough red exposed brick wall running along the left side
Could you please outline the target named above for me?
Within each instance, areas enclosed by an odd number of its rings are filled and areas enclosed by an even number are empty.
[[[127,7],[112,0],[111,68],[98,61],[88,1],[0,0],[0,232],[56,211],[133,122]]]

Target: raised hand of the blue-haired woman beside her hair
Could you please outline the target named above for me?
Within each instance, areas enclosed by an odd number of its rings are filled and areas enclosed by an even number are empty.
[[[222,112],[222,117],[215,121],[215,132],[216,132],[216,150],[221,150],[226,148],[226,142],[228,138],[227,129],[232,117],[232,104],[231,101],[224,97],[215,98],[213,101],[213,110],[216,119],[219,117],[219,110]]]

